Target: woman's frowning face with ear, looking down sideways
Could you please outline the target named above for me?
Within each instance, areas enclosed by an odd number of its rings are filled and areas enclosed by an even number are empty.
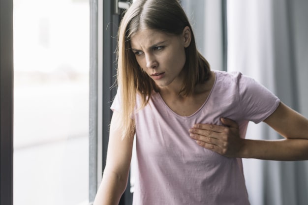
[[[190,43],[190,29],[181,35],[141,29],[130,40],[132,52],[139,66],[159,87],[182,85],[185,64],[185,47]]]

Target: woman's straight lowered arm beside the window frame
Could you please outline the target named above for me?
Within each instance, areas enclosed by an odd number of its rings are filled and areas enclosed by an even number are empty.
[[[114,111],[110,124],[106,167],[93,205],[118,205],[127,185],[134,133],[121,139],[122,129],[118,126],[120,117],[121,114]]]

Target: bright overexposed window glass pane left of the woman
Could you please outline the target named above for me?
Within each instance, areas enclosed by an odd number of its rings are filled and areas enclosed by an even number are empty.
[[[14,205],[87,205],[89,0],[14,0]]]

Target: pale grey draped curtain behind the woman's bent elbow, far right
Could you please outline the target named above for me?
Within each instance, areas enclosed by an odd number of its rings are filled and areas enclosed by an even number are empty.
[[[228,71],[238,70],[308,117],[308,1],[233,0],[227,4]],[[279,139],[264,123],[247,138]],[[251,205],[307,205],[308,162],[246,159]]]

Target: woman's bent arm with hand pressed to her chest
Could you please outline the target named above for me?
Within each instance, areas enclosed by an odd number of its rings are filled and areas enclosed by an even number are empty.
[[[190,136],[200,146],[227,157],[308,160],[308,119],[283,103],[264,120],[283,140],[242,139],[235,121],[224,118],[221,121],[226,126],[197,124],[189,130]]]

